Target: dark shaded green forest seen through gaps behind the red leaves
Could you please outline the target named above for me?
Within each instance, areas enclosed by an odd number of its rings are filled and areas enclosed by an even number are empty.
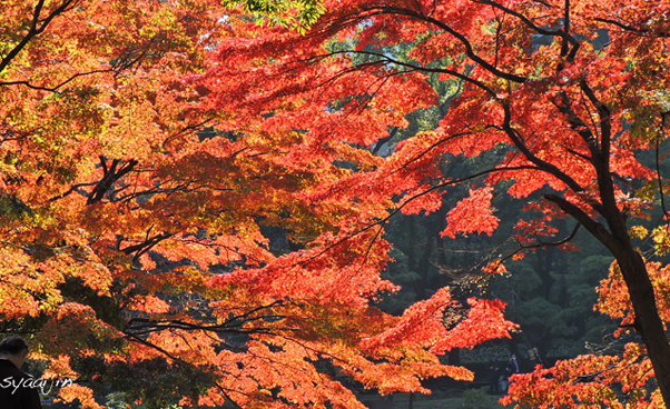
[[[553,38],[548,36],[533,36],[532,44],[538,48],[551,41]],[[608,41],[608,32],[601,30],[591,44],[600,49]],[[331,44],[333,51],[353,46],[355,44]],[[411,61],[407,54],[413,47],[413,43],[394,47],[373,44],[365,47],[364,51],[391,54],[398,61]],[[361,54],[354,59],[358,59],[355,61],[358,64],[364,64],[373,57]],[[441,62],[435,61],[434,64],[439,66]],[[437,128],[440,120],[447,113],[451,101],[462,92],[461,80],[440,80],[436,73],[427,74],[427,78],[440,96],[439,103],[410,114],[410,126],[406,129],[391,129],[390,136],[372,148],[373,153],[390,154],[398,141]],[[443,173],[454,179],[476,174],[479,169],[494,166],[510,150],[511,147],[501,146],[476,158],[450,156],[445,158],[444,162],[449,164]],[[657,163],[651,151],[639,153],[638,159],[651,169],[658,167],[661,174],[670,173],[667,163]],[[638,188],[640,187],[635,187]],[[460,288],[463,297],[476,292],[506,302],[506,317],[520,325],[520,331],[509,340],[490,341],[475,348],[475,351],[454,351],[450,356],[453,363],[463,359],[486,360],[492,355],[500,353],[506,353],[506,357],[501,357],[505,359],[512,353],[523,359],[532,348],[538,348],[543,357],[553,358],[607,351],[613,342],[611,335],[618,323],[594,311],[594,305],[598,303],[595,287],[607,277],[613,261],[608,250],[584,229],[573,232],[574,221],[555,220],[558,232],[554,239],[560,240],[574,233],[569,240],[570,245],[540,247],[521,260],[510,259],[505,265],[506,275],[482,281],[477,270],[489,261],[513,253],[520,248],[520,242],[514,240],[513,227],[523,219],[525,210],[520,200],[509,194],[495,194],[493,205],[497,209],[495,216],[500,218],[500,227],[492,236],[471,235],[459,237],[457,240],[441,237],[440,232],[446,227],[447,211],[467,196],[467,189],[466,183],[446,188],[442,207],[433,213],[398,212],[390,220],[385,238],[394,246],[392,256],[395,261],[388,266],[385,278],[402,289],[397,293],[387,295],[378,307],[398,315],[412,303],[428,299],[445,286]],[[501,183],[499,189],[504,190],[505,183]],[[529,205],[539,202],[544,192],[538,191],[521,201]],[[662,220],[660,207],[657,206],[656,210],[648,216],[647,228],[650,230]],[[653,258],[656,256],[649,241],[650,238],[638,245],[647,256]]]

